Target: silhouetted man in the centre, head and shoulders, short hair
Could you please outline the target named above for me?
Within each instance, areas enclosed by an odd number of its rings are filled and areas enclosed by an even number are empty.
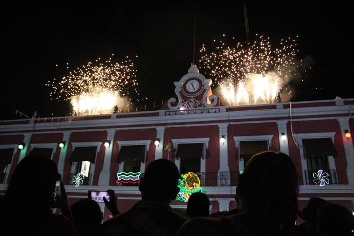
[[[187,220],[169,206],[179,192],[178,178],[179,172],[174,163],[166,159],[151,162],[140,179],[142,201],[127,212],[105,221],[97,236],[174,235]]]

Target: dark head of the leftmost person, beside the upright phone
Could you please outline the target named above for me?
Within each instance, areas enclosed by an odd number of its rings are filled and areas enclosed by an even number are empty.
[[[49,208],[58,178],[57,166],[51,159],[27,156],[16,166],[5,199],[16,202],[17,207]]]

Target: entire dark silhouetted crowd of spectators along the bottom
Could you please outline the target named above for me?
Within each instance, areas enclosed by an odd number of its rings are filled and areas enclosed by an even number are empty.
[[[161,178],[163,176],[163,178]],[[55,163],[27,156],[16,166],[4,196],[0,196],[0,235],[11,236],[350,236],[354,216],[345,207],[311,198],[298,209],[298,175],[284,153],[254,155],[239,175],[238,208],[210,214],[209,198],[193,193],[187,217],[174,212],[179,172],[169,160],[151,162],[140,179],[141,201],[120,213],[113,190],[104,203],[113,218],[104,222],[97,202],[81,199],[69,206],[63,182],[57,206],[52,194],[61,180]],[[303,221],[296,225],[297,219]]]

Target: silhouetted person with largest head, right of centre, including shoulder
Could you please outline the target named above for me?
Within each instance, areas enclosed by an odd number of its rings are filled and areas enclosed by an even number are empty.
[[[177,236],[293,235],[297,213],[298,176],[284,153],[261,152],[247,163],[236,190],[240,211],[222,218],[198,217]]]

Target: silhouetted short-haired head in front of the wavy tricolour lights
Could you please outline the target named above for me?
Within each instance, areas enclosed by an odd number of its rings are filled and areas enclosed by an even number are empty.
[[[177,166],[169,160],[159,159],[151,162],[140,178],[139,191],[142,199],[168,202],[175,200],[179,192],[179,172]]]

